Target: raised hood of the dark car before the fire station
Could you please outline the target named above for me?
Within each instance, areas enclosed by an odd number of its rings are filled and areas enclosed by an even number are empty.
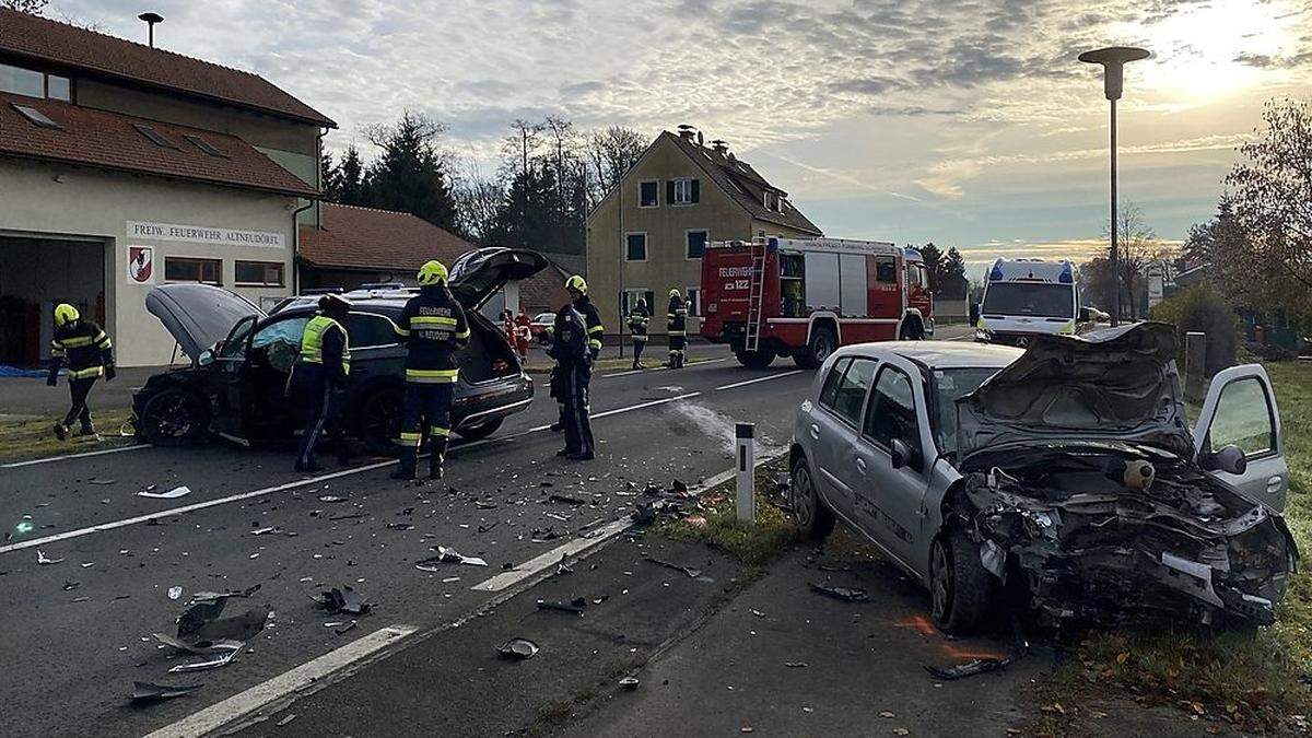
[[[164,323],[182,353],[198,361],[201,352],[227,337],[232,326],[264,311],[249,299],[210,285],[160,285],[146,294],[146,310]]]

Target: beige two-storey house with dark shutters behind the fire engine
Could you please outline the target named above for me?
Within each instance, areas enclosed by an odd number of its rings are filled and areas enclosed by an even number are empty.
[[[670,288],[689,301],[689,332],[702,313],[707,242],[823,235],[723,141],[691,126],[664,131],[588,215],[588,286],[607,334],[639,298],[652,306],[651,332],[665,332]]]

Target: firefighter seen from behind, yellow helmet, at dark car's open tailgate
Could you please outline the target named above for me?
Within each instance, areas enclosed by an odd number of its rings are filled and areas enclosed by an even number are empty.
[[[401,420],[401,466],[392,479],[413,479],[424,445],[429,443],[429,479],[442,478],[451,436],[451,399],[459,381],[455,355],[470,343],[464,309],[446,289],[446,267],[429,261],[419,269],[419,294],[405,303],[396,327],[409,349],[405,356],[405,416]]]

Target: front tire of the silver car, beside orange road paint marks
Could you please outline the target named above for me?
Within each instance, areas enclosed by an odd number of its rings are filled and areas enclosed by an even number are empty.
[[[988,622],[996,584],[980,563],[979,546],[950,528],[929,549],[930,617],[953,636],[976,633]]]

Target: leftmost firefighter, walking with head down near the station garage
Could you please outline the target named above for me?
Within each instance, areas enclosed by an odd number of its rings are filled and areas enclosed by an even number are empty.
[[[73,420],[81,423],[73,435],[96,435],[87,395],[91,394],[97,378],[105,377],[106,382],[113,381],[113,348],[105,331],[93,320],[84,320],[76,307],[63,302],[55,306],[55,335],[50,341],[50,374],[46,377],[46,383],[55,386],[59,369],[67,364],[68,394],[72,397],[68,415],[64,415],[63,423],[55,423],[55,436],[60,441],[68,437],[68,428]]]

